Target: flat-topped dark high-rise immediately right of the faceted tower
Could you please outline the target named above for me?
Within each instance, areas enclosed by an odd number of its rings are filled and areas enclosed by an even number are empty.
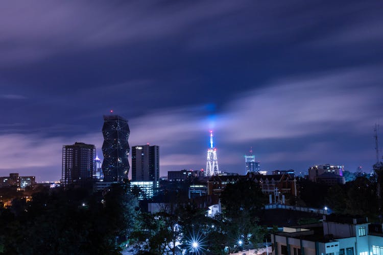
[[[159,182],[159,146],[149,144],[132,147],[132,181]]]

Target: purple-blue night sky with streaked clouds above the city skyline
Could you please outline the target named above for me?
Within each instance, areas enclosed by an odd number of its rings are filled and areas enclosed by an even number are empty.
[[[221,171],[244,174],[250,146],[269,172],[369,171],[382,13],[381,1],[3,2],[0,175],[59,180],[74,142],[102,158],[111,109],[131,146],[160,146],[161,175],[205,168],[210,130]]]

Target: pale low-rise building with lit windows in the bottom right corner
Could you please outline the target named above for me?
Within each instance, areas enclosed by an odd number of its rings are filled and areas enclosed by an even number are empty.
[[[272,254],[380,255],[383,234],[379,225],[368,223],[367,218],[324,215],[322,223],[283,227],[283,232],[272,234]]]

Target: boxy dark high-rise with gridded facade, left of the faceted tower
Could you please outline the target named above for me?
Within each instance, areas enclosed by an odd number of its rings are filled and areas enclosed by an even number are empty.
[[[64,186],[82,185],[92,180],[95,146],[76,142],[62,146],[61,183]]]

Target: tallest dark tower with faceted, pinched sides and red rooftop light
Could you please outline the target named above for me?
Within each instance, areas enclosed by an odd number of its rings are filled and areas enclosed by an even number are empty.
[[[104,115],[102,171],[105,182],[121,182],[128,178],[129,134],[126,119],[118,115]]]

